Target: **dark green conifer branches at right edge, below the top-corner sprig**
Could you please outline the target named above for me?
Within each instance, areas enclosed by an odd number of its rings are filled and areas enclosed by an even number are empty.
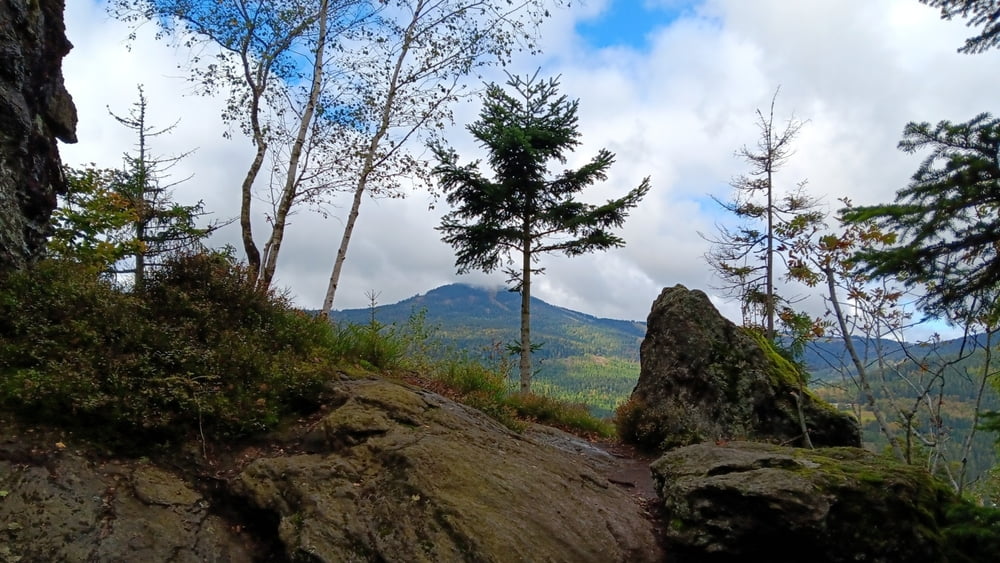
[[[966,123],[909,123],[899,148],[931,153],[896,193],[894,203],[843,212],[849,224],[874,223],[898,233],[884,248],[854,259],[874,276],[926,286],[932,313],[965,319],[995,316],[1000,283],[1000,119],[980,114]]]

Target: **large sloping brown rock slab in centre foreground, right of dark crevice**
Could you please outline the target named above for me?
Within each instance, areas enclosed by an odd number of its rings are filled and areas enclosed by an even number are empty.
[[[341,394],[308,440],[312,453],[259,459],[233,484],[278,514],[290,558],[662,559],[642,508],[602,476],[606,460],[594,452],[514,434],[389,382],[349,383]]]

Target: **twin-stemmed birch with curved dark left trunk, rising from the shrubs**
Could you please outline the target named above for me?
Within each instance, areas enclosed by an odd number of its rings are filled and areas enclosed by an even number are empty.
[[[336,184],[316,156],[340,117],[332,109],[338,103],[335,95],[326,89],[338,75],[328,53],[341,46],[348,30],[373,18],[376,9],[363,0],[110,4],[119,19],[134,25],[154,21],[159,37],[190,49],[190,80],[201,94],[225,95],[223,119],[250,139],[254,154],[240,183],[240,229],[249,278],[258,287],[272,281],[295,204]],[[253,227],[255,185],[268,169],[270,210],[265,215],[270,234],[261,248]]]

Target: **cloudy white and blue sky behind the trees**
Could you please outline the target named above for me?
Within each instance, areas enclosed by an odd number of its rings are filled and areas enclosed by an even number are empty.
[[[153,152],[194,150],[172,171],[191,176],[175,199],[203,200],[214,218],[238,216],[252,147],[238,135],[224,138],[222,102],[196,95],[179,68],[190,53],[157,41],[152,25],[130,44],[129,28],[93,0],[67,2],[66,28],[74,48],[63,72],[79,142],[61,146],[64,163],[121,166],[135,138],[108,110],[126,114],[142,84],[150,122],[176,123],[153,140]],[[726,220],[712,198],[730,197],[732,179],[748,171],[735,152],[755,145],[756,111],[767,111],[778,92],[776,120],[804,122],[776,176],[779,191],[805,181],[831,211],[842,197],[892,201],[922,160],[896,148],[907,122],[1000,112],[1000,50],[956,52],[972,34],[917,0],[585,0],[553,9],[542,53],[520,55],[507,70],[558,76],[561,92],[579,100],[582,144],[568,166],[601,148],[616,154],[608,180],[583,199],[619,197],[646,176],[652,190],[619,231],[627,246],[542,257],[545,274],[533,295],[599,317],[644,320],[664,287],[684,284],[736,319],[738,306],[713,289],[719,282],[699,233],[710,236]],[[479,109],[475,99],[458,106],[447,134],[462,162],[479,156],[464,129]],[[503,273],[455,273],[454,251],[434,229],[447,204],[431,203],[423,192],[363,202],[335,309],[367,307],[373,292],[388,304],[448,283],[504,284]],[[275,285],[301,307],[322,304],[346,205],[302,210],[290,221]],[[209,244],[242,248],[239,240],[234,223]]]

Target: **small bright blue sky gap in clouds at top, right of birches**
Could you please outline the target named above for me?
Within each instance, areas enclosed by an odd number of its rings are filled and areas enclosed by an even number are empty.
[[[604,10],[577,24],[577,33],[594,48],[645,50],[652,34],[689,16],[702,0],[608,0]]]

